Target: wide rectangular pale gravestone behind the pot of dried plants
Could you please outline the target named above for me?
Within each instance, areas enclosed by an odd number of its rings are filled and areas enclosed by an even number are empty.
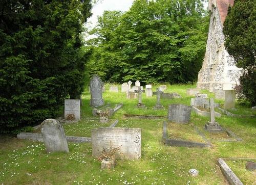
[[[99,156],[103,150],[119,147],[121,155],[118,158],[139,160],[141,157],[141,128],[99,127],[92,129],[92,155]]]

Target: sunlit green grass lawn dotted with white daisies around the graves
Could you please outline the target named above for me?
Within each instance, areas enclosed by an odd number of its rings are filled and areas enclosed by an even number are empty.
[[[161,143],[162,119],[124,118],[123,114],[166,116],[168,104],[184,103],[189,105],[191,96],[186,95],[187,88],[192,85],[167,86],[166,92],[179,93],[182,98],[161,99],[165,110],[153,110],[156,96],[147,98],[142,95],[142,102],[147,109],[136,107],[137,99],[126,99],[125,93],[110,93],[106,86],[103,99],[112,105],[122,102],[109,123],[99,123],[93,119],[92,108],[89,106],[90,93],[83,93],[81,119],[78,123],[64,124],[66,135],[90,137],[90,129],[99,126],[110,126],[115,119],[116,127],[142,128],[142,158],[138,161],[118,161],[115,169],[101,170],[100,162],[92,157],[91,143],[68,143],[69,153],[50,153],[45,151],[44,143],[19,140],[13,136],[0,136],[0,185],[1,184],[228,184],[216,161],[219,157],[256,158],[256,119],[216,118],[222,126],[230,129],[243,141],[220,142],[225,136],[212,136],[211,148],[170,147]],[[153,85],[153,92],[156,85]],[[120,90],[120,89],[119,89]],[[202,91],[202,93],[208,93]],[[212,93],[208,94],[213,97]],[[218,100],[223,104],[222,100]],[[199,129],[209,118],[194,113],[188,124],[169,123],[168,137],[201,141],[196,134],[194,125]],[[208,133],[207,133],[208,134]],[[233,164],[232,161],[230,161]],[[242,163],[242,162],[241,162]],[[229,162],[228,162],[229,164]],[[230,164],[230,165],[231,165]],[[234,163],[231,169],[245,184],[253,184],[255,173],[244,172],[244,165]],[[199,170],[197,177],[191,177],[189,169]],[[254,176],[252,176],[254,175]],[[254,181],[253,181],[254,178]]]

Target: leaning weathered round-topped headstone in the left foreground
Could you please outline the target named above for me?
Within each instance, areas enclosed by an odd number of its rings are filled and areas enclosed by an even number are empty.
[[[46,119],[41,123],[42,138],[46,146],[46,152],[65,151],[69,147],[63,126],[55,119]]]

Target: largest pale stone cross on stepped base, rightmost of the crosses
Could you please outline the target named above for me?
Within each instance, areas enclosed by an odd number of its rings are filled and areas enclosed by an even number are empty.
[[[211,133],[223,131],[219,123],[215,121],[214,98],[210,98],[210,121],[205,124],[205,129]]]

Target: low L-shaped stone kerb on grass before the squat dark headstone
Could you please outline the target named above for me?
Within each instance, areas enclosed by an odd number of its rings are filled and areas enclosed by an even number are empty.
[[[178,140],[178,139],[168,139],[167,135],[167,126],[168,123],[166,121],[163,122],[163,144],[168,146],[184,146],[184,147],[211,147],[211,144],[204,140],[207,143],[200,143],[188,140]]]

